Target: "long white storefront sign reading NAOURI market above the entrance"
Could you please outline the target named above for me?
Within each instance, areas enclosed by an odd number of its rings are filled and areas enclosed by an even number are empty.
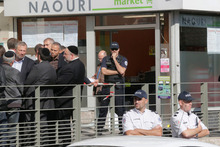
[[[181,0],[5,0],[5,16],[48,16],[172,10]]]

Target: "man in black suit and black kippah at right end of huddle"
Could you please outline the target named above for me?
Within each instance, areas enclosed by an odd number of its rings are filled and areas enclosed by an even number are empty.
[[[58,72],[57,84],[83,84],[85,77],[85,66],[79,60],[78,48],[69,46],[64,52],[64,58],[68,64],[64,65]],[[57,96],[72,96],[72,86],[58,87]],[[56,100],[56,108],[72,108],[71,98],[60,98]],[[72,110],[59,111],[59,119],[69,119]]]

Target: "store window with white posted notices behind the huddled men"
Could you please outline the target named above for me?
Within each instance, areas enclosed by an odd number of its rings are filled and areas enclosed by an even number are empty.
[[[18,39],[28,45],[27,56],[34,59],[34,46],[47,37],[61,45],[76,45],[86,65],[86,17],[18,18]]]

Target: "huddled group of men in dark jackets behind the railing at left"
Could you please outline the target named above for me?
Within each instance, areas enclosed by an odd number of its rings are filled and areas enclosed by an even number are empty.
[[[3,54],[0,65],[1,103],[0,124],[35,121],[35,89],[36,85],[83,84],[85,78],[84,64],[79,60],[78,48],[68,46],[61,50],[61,45],[52,38],[44,40],[44,45],[36,49],[37,61],[26,56],[27,44],[10,38],[7,41],[8,51]],[[72,116],[71,87],[40,87],[40,109],[70,108],[65,111],[41,111],[41,121],[65,120]],[[54,96],[62,96],[52,99]],[[48,97],[48,98],[46,98]],[[31,110],[19,113],[19,110]],[[5,112],[4,112],[5,111]],[[9,127],[13,128],[13,127]],[[13,130],[6,130],[6,132]],[[2,135],[2,134],[0,134]],[[12,134],[12,136],[15,133]],[[15,142],[15,140],[12,140]],[[10,142],[10,143],[13,143]]]

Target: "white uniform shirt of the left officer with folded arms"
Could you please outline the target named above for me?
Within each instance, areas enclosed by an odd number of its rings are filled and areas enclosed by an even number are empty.
[[[162,121],[158,114],[145,109],[144,113],[141,113],[136,108],[131,109],[123,115],[123,132],[134,129],[151,130],[157,125],[162,127]]]

